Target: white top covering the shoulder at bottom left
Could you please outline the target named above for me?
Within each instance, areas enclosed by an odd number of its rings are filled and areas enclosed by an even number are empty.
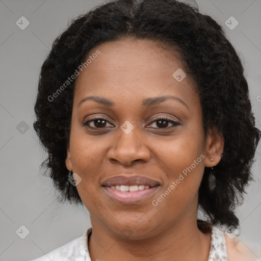
[[[87,252],[86,238],[87,231],[89,230],[90,229],[86,229],[81,237],[76,238],[63,246],[30,261],[74,261],[76,258],[82,260],[81,257],[85,257]]]

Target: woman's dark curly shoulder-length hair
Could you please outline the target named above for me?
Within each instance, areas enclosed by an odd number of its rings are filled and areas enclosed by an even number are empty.
[[[75,80],[55,99],[48,97],[93,47],[125,37],[158,41],[178,50],[200,96],[204,134],[216,128],[224,138],[223,156],[214,167],[216,187],[210,190],[211,168],[205,167],[198,203],[212,225],[237,227],[234,208],[253,180],[251,166],[260,139],[244,69],[222,27],[210,16],[175,0],[111,1],[73,19],[56,38],[41,68],[34,108],[34,128],[48,152],[41,167],[45,164],[49,169],[62,201],[83,204],[76,187],[68,182],[65,165]]]

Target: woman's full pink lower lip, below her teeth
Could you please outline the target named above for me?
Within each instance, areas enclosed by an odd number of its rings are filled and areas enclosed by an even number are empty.
[[[110,187],[102,187],[102,188],[105,189],[106,193],[115,201],[121,204],[134,204],[142,201],[145,198],[148,198],[159,187],[160,186],[155,186],[144,190],[126,191],[126,192],[111,189]]]

